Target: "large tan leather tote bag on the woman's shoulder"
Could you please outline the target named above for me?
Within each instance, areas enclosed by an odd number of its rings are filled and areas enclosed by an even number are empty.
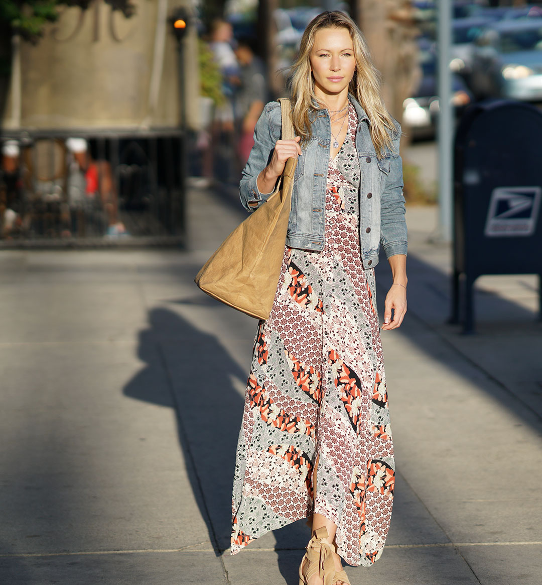
[[[282,139],[293,140],[290,100],[280,99]],[[256,319],[273,306],[284,256],[297,158],[288,159],[276,190],[224,240],[194,281],[211,297]]]

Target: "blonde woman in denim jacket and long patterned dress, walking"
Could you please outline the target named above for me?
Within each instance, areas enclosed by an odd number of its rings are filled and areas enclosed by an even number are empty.
[[[349,583],[341,558],[371,565],[391,517],[394,459],[374,266],[382,244],[393,284],[382,329],[406,312],[401,129],[352,19],[324,12],[293,66],[295,140],[280,105],[255,130],[241,199],[250,211],[298,157],[275,301],[260,321],[233,491],[232,554],[308,518],[300,584]]]

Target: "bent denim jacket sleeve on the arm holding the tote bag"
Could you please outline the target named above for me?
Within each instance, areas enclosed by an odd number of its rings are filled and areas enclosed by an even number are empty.
[[[271,193],[260,193],[256,179],[269,164],[275,143],[280,139],[281,115],[279,102],[269,102],[254,130],[254,146],[242,172],[239,183],[241,203],[247,211],[254,211],[266,201]]]

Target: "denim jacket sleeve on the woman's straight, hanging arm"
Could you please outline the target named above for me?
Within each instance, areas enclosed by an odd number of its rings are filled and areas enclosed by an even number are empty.
[[[385,180],[380,202],[380,243],[386,257],[405,254],[407,231],[405,221],[405,198],[403,196],[402,159],[399,153],[401,125],[395,121],[393,151],[390,156],[390,172]]]

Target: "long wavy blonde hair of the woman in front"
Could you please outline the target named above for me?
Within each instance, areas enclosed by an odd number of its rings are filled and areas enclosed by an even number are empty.
[[[392,148],[392,135],[396,129],[390,113],[384,104],[381,91],[380,71],[371,60],[369,47],[356,23],[343,12],[322,12],[308,24],[296,63],[291,67],[290,90],[293,97],[292,121],[296,135],[306,143],[312,137],[310,113],[314,113],[314,78],[311,73],[310,56],[318,30],[345,28],[352,39],[356,70],[350,81],[349,92],[362,105],[369,116],[370,134],[379,159],[384,157],[385,148]],[[322,105],[322,107],[324,107]]]

